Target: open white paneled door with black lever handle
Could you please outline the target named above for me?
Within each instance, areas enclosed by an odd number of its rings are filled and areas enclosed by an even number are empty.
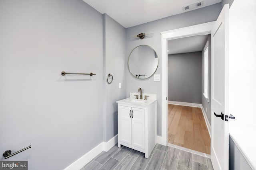
[[[229,4],[226,4],[212,29],[211,160],[214,170],[228,170],[228,121],[225,121],[229,114],[228,10]]]

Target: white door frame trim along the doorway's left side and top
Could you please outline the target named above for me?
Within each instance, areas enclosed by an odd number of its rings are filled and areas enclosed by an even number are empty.
[[[191,37],[195,35],[208,35],[212,31],[215,21],[184,27],[180,29],[173,29],[170,31],[161,32],[162,39],[162,137],[158,137],[157,143],[161,145],[167,144],[168,140],[168,54],[167,41],[171,39],[178,39],[184,37]]]

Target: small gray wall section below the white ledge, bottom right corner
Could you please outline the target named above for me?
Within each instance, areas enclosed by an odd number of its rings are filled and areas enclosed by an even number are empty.
[[[252,170],[231,137],[229,137],[229,169]]]

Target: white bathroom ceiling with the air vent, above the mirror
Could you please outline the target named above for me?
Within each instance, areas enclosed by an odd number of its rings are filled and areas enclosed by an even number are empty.
[[[173,16],[183,12],[182,6],[202,0],[83,0],[101,14],[128,28],[142,23]],[[222,0],[204,0],[203,6],[209,6]],[[195,8],[198,9],[198,8]],[[189,10],[188,10],[189,11]]]

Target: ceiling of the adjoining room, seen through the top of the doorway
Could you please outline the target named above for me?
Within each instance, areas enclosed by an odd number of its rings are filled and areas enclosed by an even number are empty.
[[[197,35],[168,41],[168,54],[202,51],[208,35]]]

